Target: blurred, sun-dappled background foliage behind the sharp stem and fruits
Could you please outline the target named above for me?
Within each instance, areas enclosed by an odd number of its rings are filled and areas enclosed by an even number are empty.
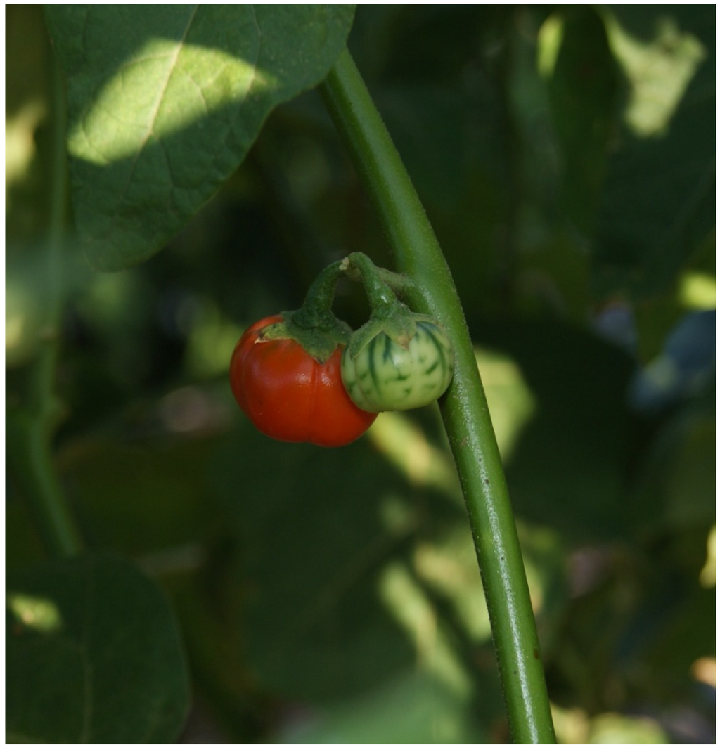
[[[6,13],[12,403],[49,105],[40,9]],[[362,6],[350,49],[477,345],[559,739],[714,742],[715,8]],[[258,434],[226,384],[244,327],[351,251],[392,266],[315,92],[150,262],[68,247],[58,470],[90,543],[172,594],[190,742],[508,739],[436,410],[330,451]],[[11,476],[6,547],[41,554]]]

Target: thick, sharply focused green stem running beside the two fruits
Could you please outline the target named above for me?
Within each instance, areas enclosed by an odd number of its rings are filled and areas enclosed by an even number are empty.
[[[398,270],[414,281],[407,298],[416,310],[443,323],[455,348],[455,376],[440,409],[472,527],[511,734],[515,742],[554,742],[505,473],[455,284],[347,49],[320,90],[377,209]]]

